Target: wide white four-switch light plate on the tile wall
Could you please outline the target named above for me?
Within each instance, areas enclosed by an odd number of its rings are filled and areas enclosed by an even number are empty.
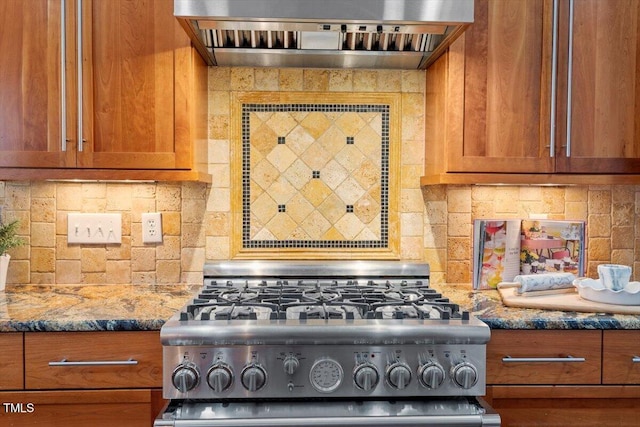
[[[122,215],[119,213],[70,213],[67,243],[122,243]]]

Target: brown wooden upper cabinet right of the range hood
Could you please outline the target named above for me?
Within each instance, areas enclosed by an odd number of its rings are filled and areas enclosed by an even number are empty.
[[[640,182],[640,0],[475,0],[426,78],[423,184]]]

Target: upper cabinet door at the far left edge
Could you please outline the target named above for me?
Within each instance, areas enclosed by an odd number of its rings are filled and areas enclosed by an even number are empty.
[[[0,2],[0,167],[75,164],[62,142],[61,5]]]

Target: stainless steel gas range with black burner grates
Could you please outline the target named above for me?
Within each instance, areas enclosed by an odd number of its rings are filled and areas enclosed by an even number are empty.
[[[499,426],[489,337],[427,264],[208,263],[161,330],[155,426]]]

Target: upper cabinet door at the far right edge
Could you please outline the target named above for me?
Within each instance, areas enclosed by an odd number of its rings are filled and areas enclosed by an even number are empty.
[[[569,22],[566,7],[561,11],[561,19]],[[577,1],[573,22],[570,150],[562,144],[557,171],[637,173],[640,1]],[[560,75],[566,80],[566,60],[563,64]],[[566,82],[561,87],[566,88]],[[566,116],[561,119],[564,130]]]

